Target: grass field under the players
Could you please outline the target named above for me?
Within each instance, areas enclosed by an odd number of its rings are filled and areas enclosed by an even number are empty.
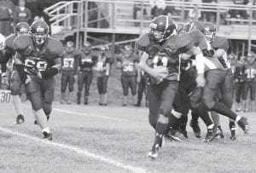
[[[229,138],[227,118],[221,118],[224,139],[203,143],[188,127],[189,139],[166,140],[152,160],[146,157],[154,139],[146,108],[55,102],[49,120],[53,141],[43,141],[28,102],[26,123],[20,125],[13,124],[12,104],[0,107],[0,172],[256,172],[255,112],[241,113],[251,130],[237,130],[236,141]]]

